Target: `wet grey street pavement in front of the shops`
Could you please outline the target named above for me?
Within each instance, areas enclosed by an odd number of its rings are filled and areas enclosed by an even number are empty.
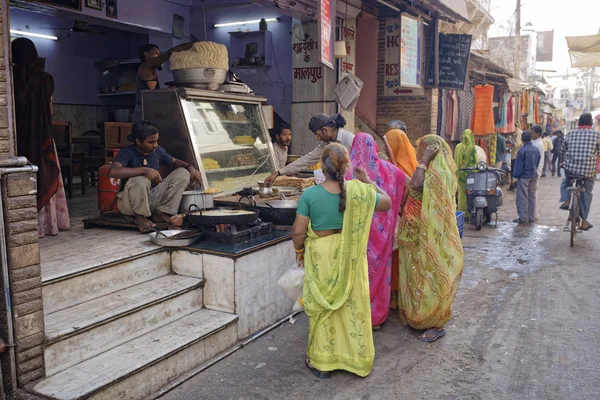
[[[517,226],[505,190],[497,227],[465,227],[463,280],[446,337],[432,344],[390,312],[369,377],[304,366],[307,319],[284,323],[167,393],[191,399],[599,399],[597,227],[569,246],[559,178],[540,180],[537,224]]]

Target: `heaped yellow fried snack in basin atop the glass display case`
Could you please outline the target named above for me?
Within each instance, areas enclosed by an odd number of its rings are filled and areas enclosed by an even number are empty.
[[[227,47],[214,42],[196,42],[191,49],[171,54],[171,71],[193,68],[229,69]]]

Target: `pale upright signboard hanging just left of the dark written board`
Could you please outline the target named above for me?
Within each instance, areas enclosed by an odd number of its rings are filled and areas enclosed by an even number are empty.
[[[400,27],[400,86],[421,87],[423,24],[411,15],[402,14]]]

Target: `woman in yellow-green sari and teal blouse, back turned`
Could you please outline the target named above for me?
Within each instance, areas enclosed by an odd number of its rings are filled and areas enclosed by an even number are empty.
[[[323,379],[338,369],[365,377],[375,357],[366,253],[373,211],[389,210],[391,200],[363,169],[344,182],[348,162],[344,146],[325,148],[327,179],[304,191],[292,227],[297,260],[306,270],[306,366]]]

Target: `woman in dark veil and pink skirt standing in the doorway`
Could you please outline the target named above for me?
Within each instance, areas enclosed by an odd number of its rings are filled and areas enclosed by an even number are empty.
[[[39,167],[37,176],[38,233],[56,235],[70,228],[67,198],[52,127],[54,79],[44,72],[33,42],[12,42],[17,127],[17,153]]]

